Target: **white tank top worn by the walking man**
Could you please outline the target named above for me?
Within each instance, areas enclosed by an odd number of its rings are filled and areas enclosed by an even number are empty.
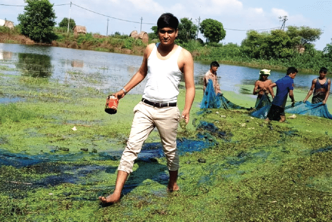
[[[147,58],[146,85],[143,98],[152,102],[173,103],[177,101],[182,72],[178,58],[182,47],[178,46],[173,55],[166,60],[157,58],[156,44]]]

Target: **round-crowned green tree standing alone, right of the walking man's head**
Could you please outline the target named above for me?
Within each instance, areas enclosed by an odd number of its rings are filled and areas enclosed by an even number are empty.
[[[203,36],[207,39],[207,43],[214,42],[219,43],[220,40],[225,39],[226,31],[221,22],[213,19],[203,20],[200,24],[199,30]]]

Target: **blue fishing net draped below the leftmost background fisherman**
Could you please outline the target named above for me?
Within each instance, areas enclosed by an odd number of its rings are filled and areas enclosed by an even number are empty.
[[[205,89],[203,99],[201,102],[201,109],[208,109],[208,108],[215,108],[215,109],[243,109],[243,110],[250,110],[245,107],[238,106],[228,99],[226,99],[223,94],[215,93],[213,89],[213,82],[211,79],[207,82],[207,89]]]

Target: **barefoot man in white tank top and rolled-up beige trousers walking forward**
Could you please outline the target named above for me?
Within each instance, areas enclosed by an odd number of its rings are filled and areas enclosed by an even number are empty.
[[[123,89],[114,94],[121,99],[145,77],[147,79],[142,101],[134,108],[134,119],[118,167],[114,192],[107,197],[99,197],[102,203],[115,203],[120,200],[125,181],[132,172],[134,160],[140,153],[145,139],[155,127],[160,134],[167,160],[169,172],[167,191],[179,189],[176,134],[180,118],[184,118],[186,123],[189,121],[189,111],[195,97],[195,84],[191,54],[174,44],[178,35],[178,24],[178,19],[170,13],[159,17],[157,27],[160,43],[147,45],[139,70]],[[185,79],[186,99],[184,110],[180,115],[177,96],[182,75]]]

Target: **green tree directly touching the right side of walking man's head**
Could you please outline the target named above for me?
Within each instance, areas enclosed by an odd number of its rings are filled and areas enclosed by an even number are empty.
[[[196,39],[197,33],[197,25],[195,25],[191,19],[182,18],[180,19],[180,23],[178,26],[178,39],[183,42],[187,43],[191,39]]]

